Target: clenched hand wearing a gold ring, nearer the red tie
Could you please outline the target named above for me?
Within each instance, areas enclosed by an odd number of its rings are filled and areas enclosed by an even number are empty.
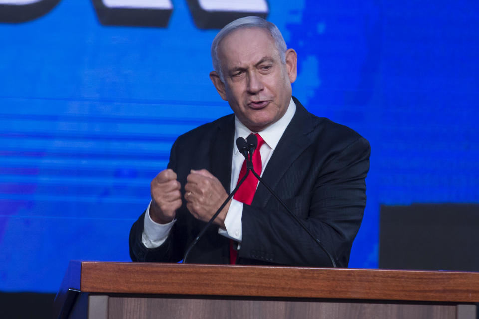
[[[209,221],[216,213],[221,204],[228,198],[228,194],[223,188],[218,178],[213,176],[208,170],[191,170],[186,178],[185,200],[186,208],[196,218],[203,221]],[[226,204],[220,214],[215,218],[214,223],[220,228],[225,229],[225,218],[230,207],[230,202]]]

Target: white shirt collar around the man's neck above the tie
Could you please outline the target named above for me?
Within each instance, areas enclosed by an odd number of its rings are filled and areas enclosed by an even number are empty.
[[[251,130],[249,130],[243,123],[241,123],[241,121],[235,115],[235,141],[239,137],[246,138],[251,133],[259,133],[259,135],[261,135],[261,137],[263,138],[264,142],[266,142],[266,144],[272,150],[274,150],[278,145],[281,136],[286,130],[286,127],[289,125],[289,122],[291,122],[295,112],[296,104],[294,104],[293,99],[291,98],[286,113],[284,113],[284,115],[279,120],[277,120],[276,122],[274,122],[260,132],[251,132]],[[239,152],[237,148],[234,148],[234,150],[235,154]]]

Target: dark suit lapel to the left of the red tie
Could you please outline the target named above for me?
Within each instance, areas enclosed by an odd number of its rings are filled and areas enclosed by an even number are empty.
[[[210,154],[210,172],[220,180],[225,190],[230,192],[231,160],[233,138],[235,136],[235,118],[233,115],[218,122],[217,134],[212,143]]]

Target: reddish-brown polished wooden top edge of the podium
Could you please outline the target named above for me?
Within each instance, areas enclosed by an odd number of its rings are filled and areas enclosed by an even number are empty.
[[[119,262],[70,269],[79,287],[68,288],[92,293],[479,302],[476,272]]]

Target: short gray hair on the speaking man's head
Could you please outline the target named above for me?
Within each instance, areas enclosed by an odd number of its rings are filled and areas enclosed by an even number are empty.
[[[220,32],[218,32],[218,34],[215,36],[215,38],[213,39],[213,43],[211,44],[211,60],[213,62],[213,69],[216,71],[216,73],[218,73],[222,82],[225,82],[225,80],[223,70],[221,69],[220,59],[218,58],[218,47],[221,40],[223,40],[228,34],[242,28],[266,29],[274,39],[274,43],[276,44],[276,48],[279,52],[281,62],[286,63],[286,42],[284,42],[284,38],[281,32],[274,23],[266,21],[265,19],[258,16],[247,16],[244,18],[240,18],[228,23],[223,29],[221,29]]]

